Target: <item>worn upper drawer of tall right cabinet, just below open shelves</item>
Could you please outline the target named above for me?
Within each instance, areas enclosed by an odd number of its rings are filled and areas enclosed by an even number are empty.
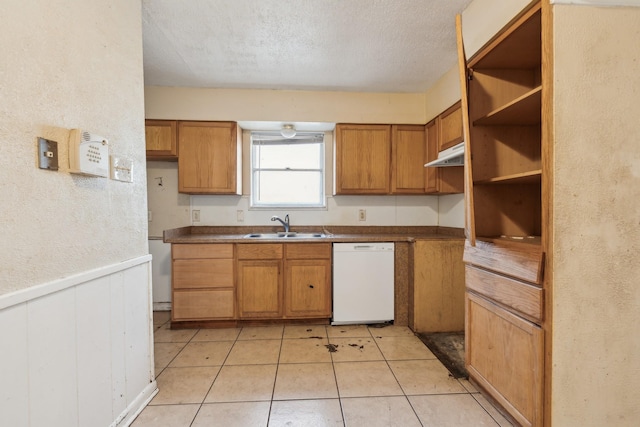
[[[535,243],[477,240],[476,245],[471,246],[467,240],[464,262],[542,285],[544,254]]]

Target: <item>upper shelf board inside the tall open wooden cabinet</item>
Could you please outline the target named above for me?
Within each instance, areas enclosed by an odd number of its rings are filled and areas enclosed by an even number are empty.
[[[536,125],[540,124],[542,86],[538,86],[506,105],[473,122],[479,125]]]

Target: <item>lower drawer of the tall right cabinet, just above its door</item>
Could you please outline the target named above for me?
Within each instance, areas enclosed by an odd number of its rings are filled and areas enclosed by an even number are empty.
[[[465,273],[468,290],[509,307],[535,323],[542,322],[542,288],[468,265]]]

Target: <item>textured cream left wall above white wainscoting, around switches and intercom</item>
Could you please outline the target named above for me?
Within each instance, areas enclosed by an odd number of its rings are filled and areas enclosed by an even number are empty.
[[[0,294],[147,253],[139,1],[0,4]],[[134,183],[68,172],[83,128],[133,160]],[[37,167],[36,137],[60,170]]]

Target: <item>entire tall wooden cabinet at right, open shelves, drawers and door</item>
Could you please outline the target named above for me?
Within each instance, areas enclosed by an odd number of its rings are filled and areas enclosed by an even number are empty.
[[[467,61],[457,22],[466,112],[466,365],[471,381],[524,426],[544,423],[542,26],[535,2]]]

